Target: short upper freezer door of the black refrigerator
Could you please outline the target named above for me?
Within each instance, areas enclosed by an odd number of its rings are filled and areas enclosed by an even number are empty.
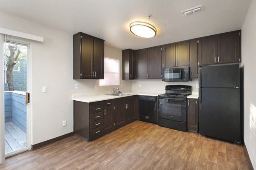
[[[199,85],[208,88],[240,87],[239,64],[201,66],[199,68]]]

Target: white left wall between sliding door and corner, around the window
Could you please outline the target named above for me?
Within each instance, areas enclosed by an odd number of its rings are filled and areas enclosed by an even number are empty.
[[[32,144],[73,132],[72,94],[109,91],[112,87],[99,87],[99,80],[73,80],[73,34],[54,30],[24,20],[0,14],[0,27],[44,37],[45,42],[31,43],[32,53]],[[99,37],[101,38],[101,37]],[[105,56],[122,58],[120,49],[105,46]],[[120,61],[120,70],[122,69]],[[75,89],[75,84],[79,89]],[[131,82],[122,81],[120,91],[131,91]],[[98,89],[95,89],[98,85]],[[42,86],[48,87],[42,93]],[[62,127],[62,121],[67,126]]]

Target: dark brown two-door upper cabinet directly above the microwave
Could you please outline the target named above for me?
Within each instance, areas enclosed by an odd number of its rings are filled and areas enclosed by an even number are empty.
[[[189,41],[172,43],[161,48],[162,67],[189,65]]]

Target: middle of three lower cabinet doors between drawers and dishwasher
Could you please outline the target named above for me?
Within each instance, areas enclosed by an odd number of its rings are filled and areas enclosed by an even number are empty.
[[[125,125],[126,123],[125,110],[126,110],[125,104],[116,105],[116,109],[115,109],[116,128]]]

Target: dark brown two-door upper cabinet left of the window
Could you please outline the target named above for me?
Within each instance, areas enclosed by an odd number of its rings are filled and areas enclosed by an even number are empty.
[[[73,79],[104,79],[104,40],[73,35]]]

